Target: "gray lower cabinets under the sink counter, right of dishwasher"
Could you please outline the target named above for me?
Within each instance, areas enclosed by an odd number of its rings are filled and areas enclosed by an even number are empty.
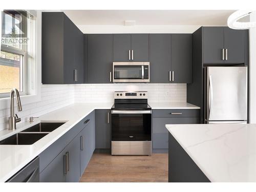
[[[39,157],[40,182],[78,182],[95,150],[94,111]]]

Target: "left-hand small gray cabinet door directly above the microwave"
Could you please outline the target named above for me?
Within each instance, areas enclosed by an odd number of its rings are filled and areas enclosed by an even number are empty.
[[[130,34],[114,34],[114,61],[129,60],[129,50],[131,50]]]

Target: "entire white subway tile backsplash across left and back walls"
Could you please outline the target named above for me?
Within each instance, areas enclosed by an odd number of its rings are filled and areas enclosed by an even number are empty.
[[[114,91],[147,91],[148,102],[186,102],[186,84],[173,83],[113,83],[41,85],[41,101],[23,105],[15,113],[28,121],[63,106],[83,102],[114,102]],[[0,110],[0,130],[8,128],[10,109]]]

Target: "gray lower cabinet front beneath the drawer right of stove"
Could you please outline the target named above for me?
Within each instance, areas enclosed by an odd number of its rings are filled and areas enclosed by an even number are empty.
[[[165,124],[194,124],[199,123],[198,117],[173,117],[173,118],[153,118],[153,136],[152,148],[167,149],[168,148],[168,130]]]

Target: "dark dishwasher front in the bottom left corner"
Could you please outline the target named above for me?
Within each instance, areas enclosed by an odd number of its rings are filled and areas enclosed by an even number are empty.
[[[29,162],[6,182],[39,182],[39,157]]]

